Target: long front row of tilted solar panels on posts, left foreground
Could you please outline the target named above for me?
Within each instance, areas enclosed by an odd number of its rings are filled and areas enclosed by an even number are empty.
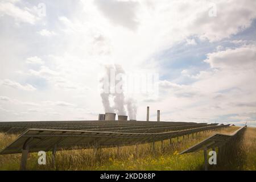
[[[25,145],[30,152],[49,151],[56,146],[56,150],[70,150],[74,146],[81,148],[124,146],[135,143],[154,142],[173,137],[180,137],[210,129],[225,126],[204,126],[195,129],[168,131],[162,133],[117,133],[110,131],[78,131],[78,130],[49,130],[28,129],[13,143],[3,149],[0,154],[20,153]]]

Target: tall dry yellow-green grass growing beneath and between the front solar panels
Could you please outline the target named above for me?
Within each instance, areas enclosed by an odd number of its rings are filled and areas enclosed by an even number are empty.
[[[238,127],[229,127],[218,130],[219,133],[232,133]],[[38,164],[37,153],[28,156],[28,170],[203,170],[203,152],[179,155],[193,144],[213,135],[216,131],[209,131],[192,138],[183,137],[164,140],[155,143],[155,152],[151,144],[138,146],[125,146],[120,148],[102,148],[95,152],[88,150],[57,151],[56,167],[52,167],[51,152],[47,152],[47,164]],[[0,133],[0,148],[11,143],[18,135]],[[20,154],[0,155],[0,170],[18,170]],[[242,146],[236,159],[224,164],[214,166],[213,170],[256,170],[256,128],[247,128],[243,137]]]

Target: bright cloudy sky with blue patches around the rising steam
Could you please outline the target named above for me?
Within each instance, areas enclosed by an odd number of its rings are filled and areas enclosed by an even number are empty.
[[[97,119],[105,64],[159,74],[138,120],[256,126],[256,1],[0,1],[0,121]]]

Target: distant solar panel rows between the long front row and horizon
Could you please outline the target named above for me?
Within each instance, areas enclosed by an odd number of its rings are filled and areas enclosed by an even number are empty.
[[[212,124],[217,125],[217,124]],[[207,126],[207,123],[187,122],[145,122],[145,121],[72,121],[72,122],[6,122],[0,123],[0,131],[22,133],[26,129],[92,130],[129,133],[158,133],[194,127]]]

